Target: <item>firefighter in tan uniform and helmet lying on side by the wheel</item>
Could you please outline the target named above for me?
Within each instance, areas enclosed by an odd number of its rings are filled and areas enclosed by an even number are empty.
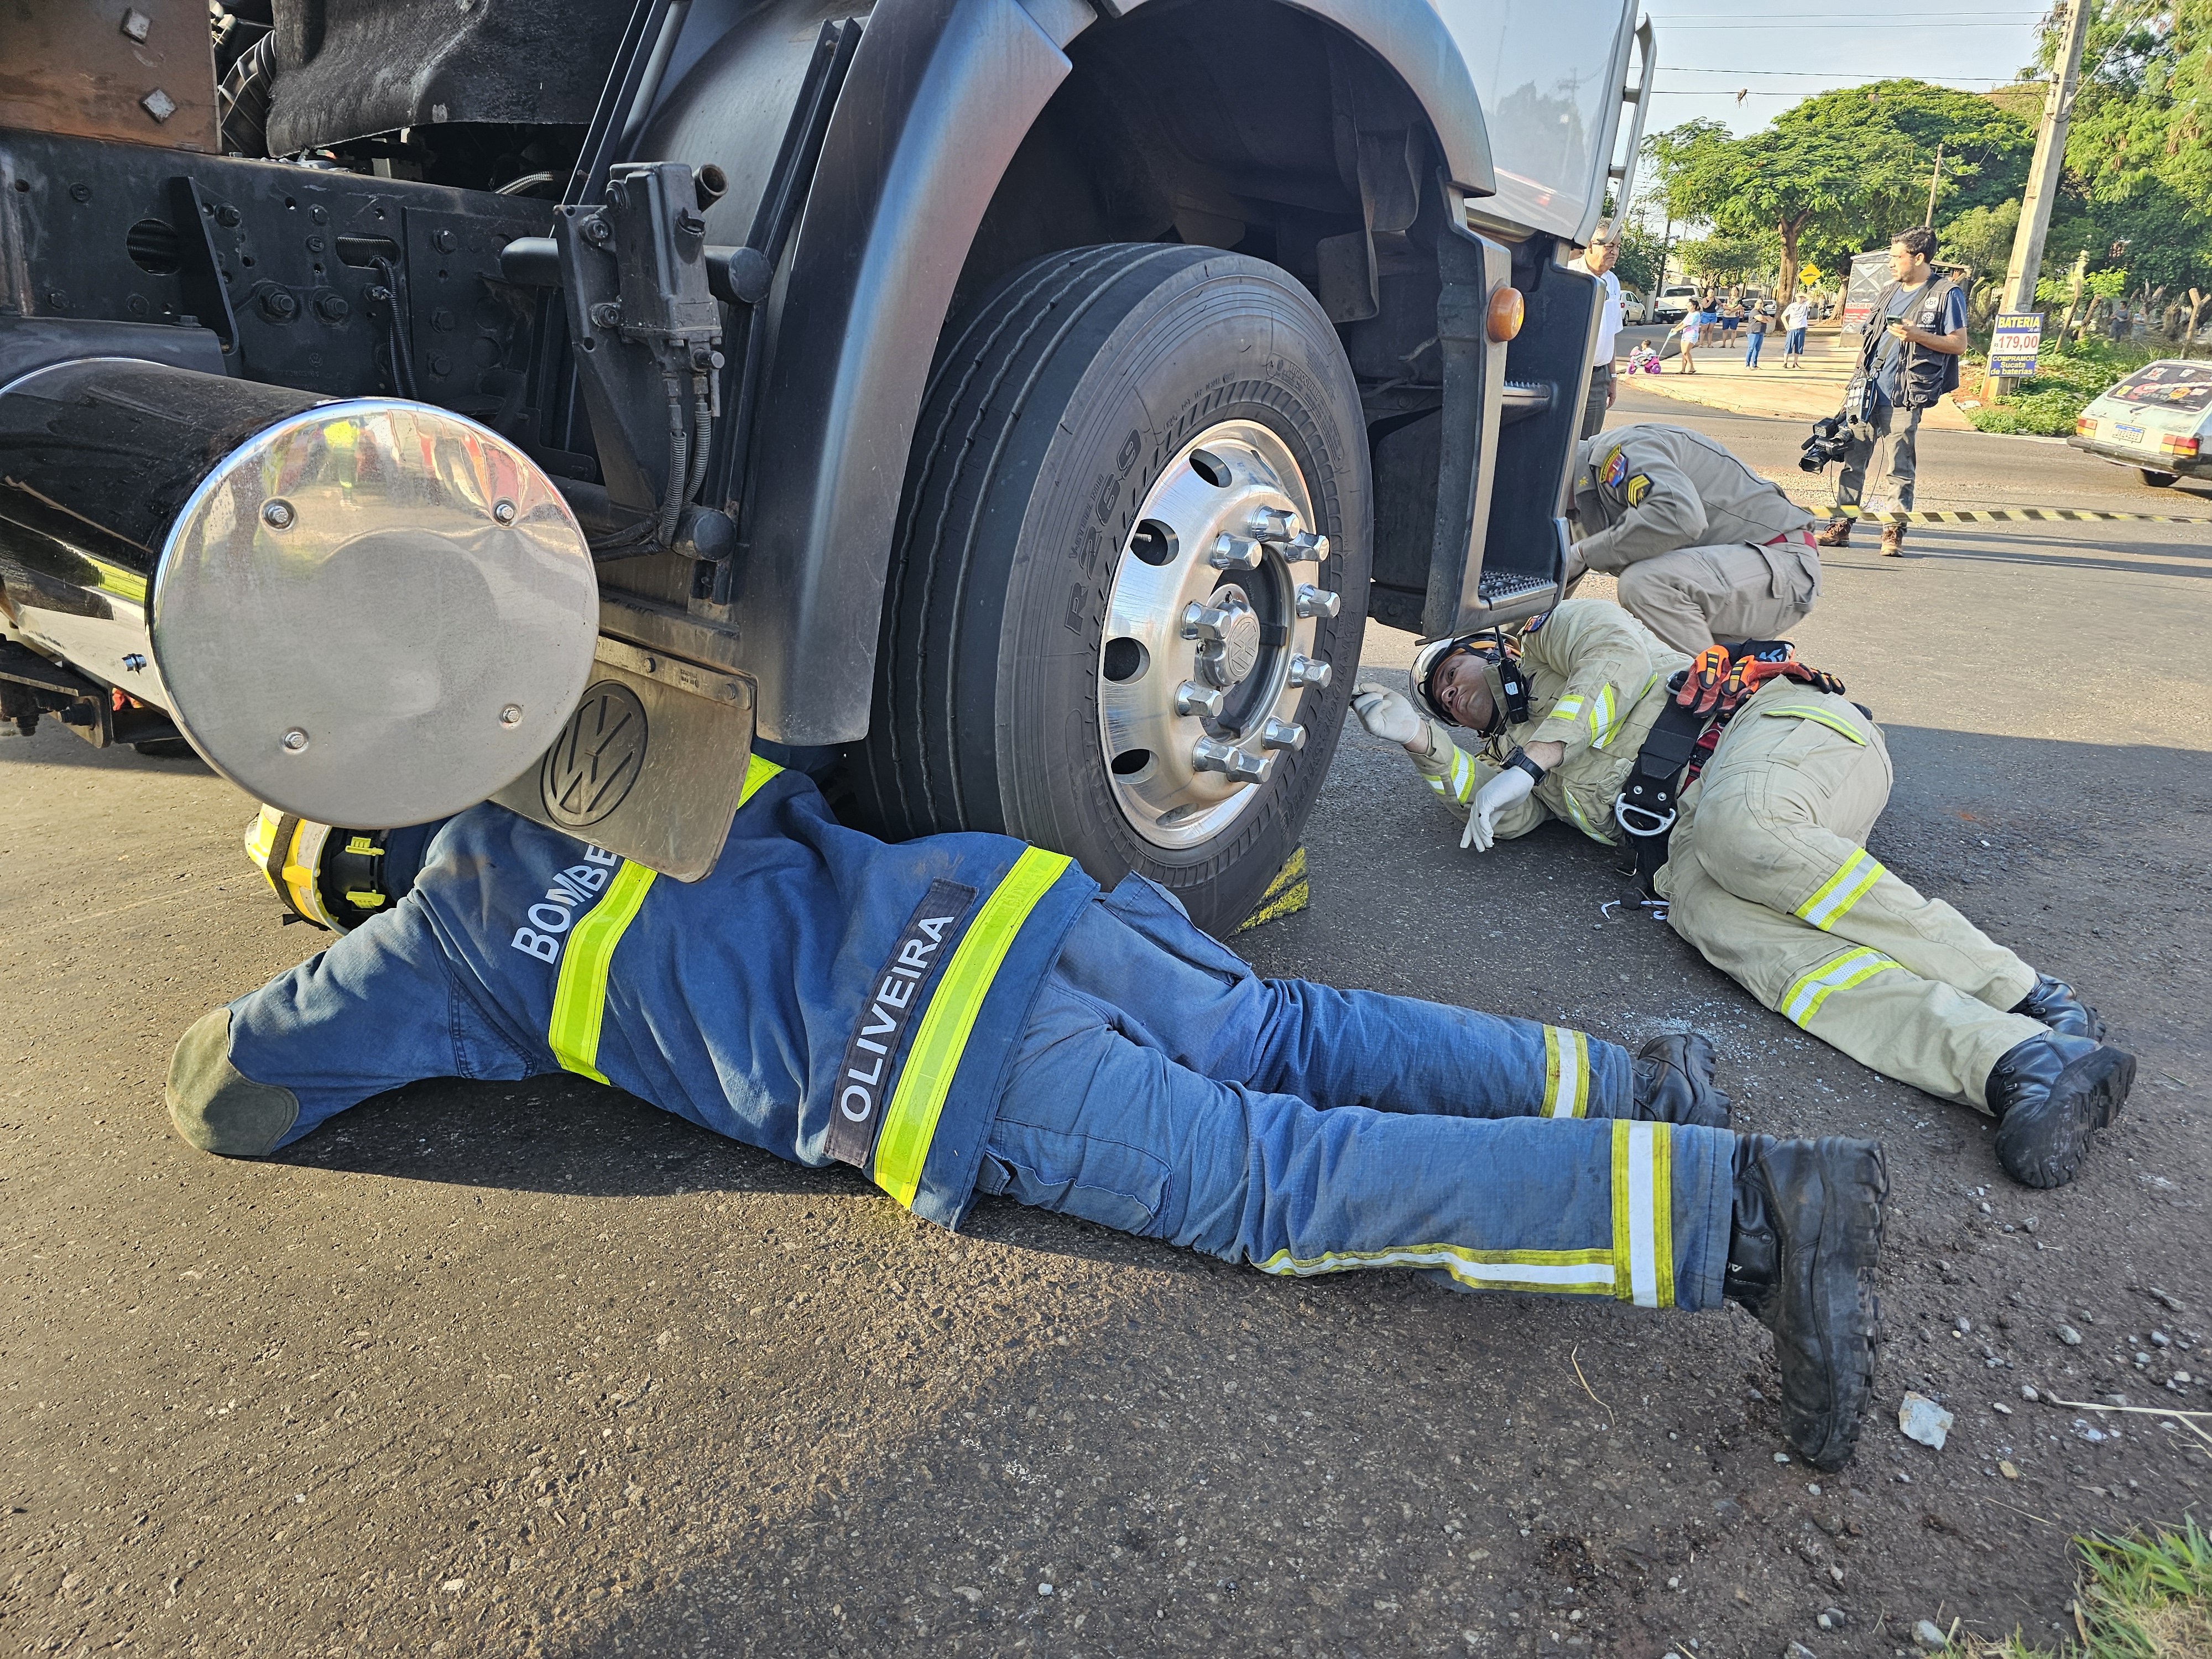
[[[1493,635],[1440,639],[1413,661],[1413,701],[1369,681],[1354,710],[1467,818],[1462,847],[1566,818],[1639,849],[1708,962],[1860,1064],[1995,1115],[2004,1170],[2064,1186],[2135,1057],[2101,1046],[2073,987],[1865,849],[1889,801],[1880,728],[1787,646],[1765,655],[1692,661],[1619,606],[1568,599],[1528,624],[1517,657]]]

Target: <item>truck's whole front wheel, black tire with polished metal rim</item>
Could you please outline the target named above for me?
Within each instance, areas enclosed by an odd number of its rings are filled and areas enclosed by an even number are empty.
[[[1232,929],[1329,770],[1369,529],[1358,385],[1290,272],[1177,243],[1024,265],[931,372],[860,816],[1137,869]]]

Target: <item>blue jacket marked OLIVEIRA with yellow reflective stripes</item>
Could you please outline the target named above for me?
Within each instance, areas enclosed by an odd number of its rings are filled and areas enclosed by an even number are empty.
[[[230,1062],[299,1095],[285,1144],[416,1077],[566,1068],[796,1164],[858,1164],[953,1225],[1095,891],[1006,836],[845,830],[761,759],[690,885],[480,805],[427,836],[389,911],[230,1004]]]

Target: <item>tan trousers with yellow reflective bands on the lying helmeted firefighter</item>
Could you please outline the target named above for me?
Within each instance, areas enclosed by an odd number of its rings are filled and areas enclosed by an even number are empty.
[[[2035,971],[1863,847],[1889,781],[1882,734],[1849,701],[1770,692],[1730,723],[1657,885],[1674,931],[1770,1009],[1989,1110],[1991,1066],[2044,1035],[2006,1013]]]

